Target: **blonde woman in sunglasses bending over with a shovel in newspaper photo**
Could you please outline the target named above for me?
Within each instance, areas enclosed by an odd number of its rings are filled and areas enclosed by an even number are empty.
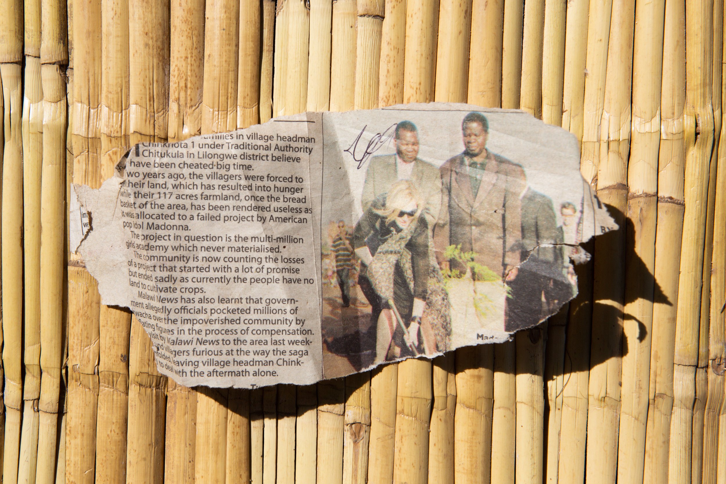
[[[359,284],[377,324],[376,361],[430,355],[448,345],[449,299],[423,208],[414,184],[401,180],[356,224],[353,247],[363,266]]]

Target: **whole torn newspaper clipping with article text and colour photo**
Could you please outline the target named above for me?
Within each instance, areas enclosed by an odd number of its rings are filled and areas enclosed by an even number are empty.
[[[181,385],[307,385],[497,343],[576,294],[616,229],[579,145],[521,111],[306,112],[137,144],[74,186],[71,247]]]

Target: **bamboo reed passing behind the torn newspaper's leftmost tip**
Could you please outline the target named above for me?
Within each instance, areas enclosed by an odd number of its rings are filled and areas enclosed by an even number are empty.
[[[101,2],[75,0],[73,16],[73,181],[97,187],[100,181]],[[80,258],[73,255],[69,264],[66,480],[92,483],[99,391],[99,295],[95,280]],[[89,469],[91,472],[87,472]]]

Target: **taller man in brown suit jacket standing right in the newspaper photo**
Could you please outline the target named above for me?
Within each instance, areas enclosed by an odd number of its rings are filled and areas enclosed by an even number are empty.
[[[520,165],[486,149],[489,122],[481,112],[462,121],[464,152],[441,165],[441,210],[434,229],[436,255],[442,266],[449,245],[476,253],[475,261],[507,281],[517,276],[521,250],[521,195],[526,187]]]

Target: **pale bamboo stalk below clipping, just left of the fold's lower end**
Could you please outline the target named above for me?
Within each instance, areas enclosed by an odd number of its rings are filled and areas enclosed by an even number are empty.
[[[295,483],[315,484],[317,476],[317,388],[298,386],[295,420]]]

